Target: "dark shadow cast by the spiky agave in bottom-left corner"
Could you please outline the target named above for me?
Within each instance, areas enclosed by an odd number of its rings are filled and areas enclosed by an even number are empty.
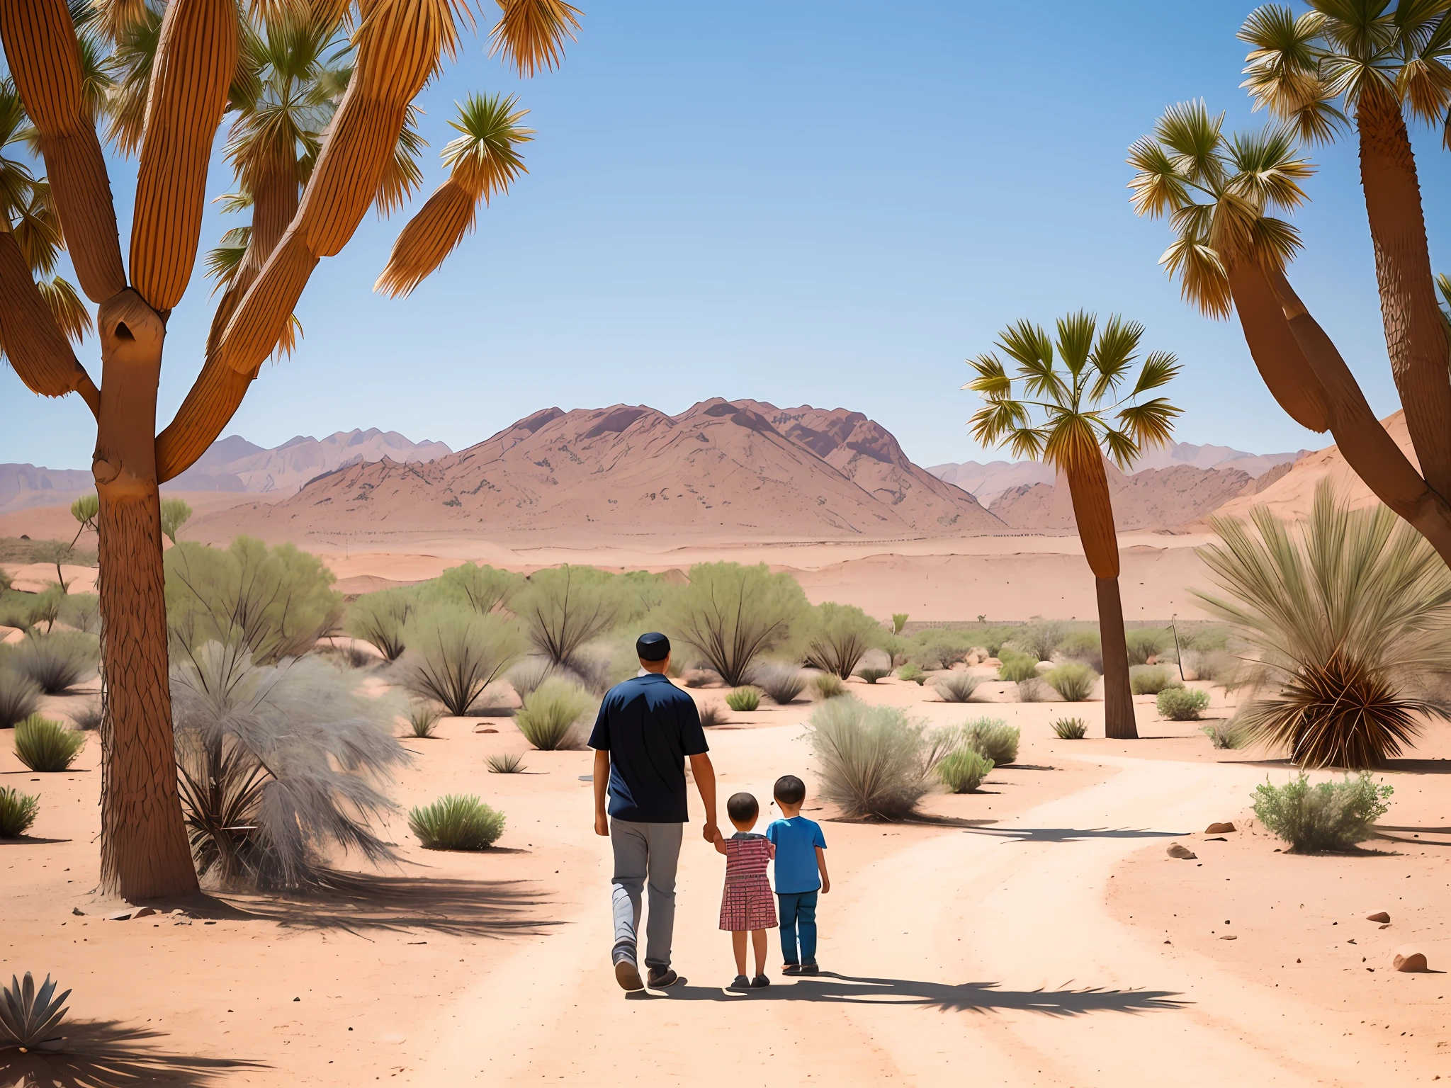
[[[45,1088],[120,1088],[163,1085],[205,1088],[226,1072],[258,1071],[263,1062],[171,1053],[158,1044],[164,1033],[126,1027],[119,1020],[70,1020],[55,1049],[22,1053],[0,1049],[0,1084]]]

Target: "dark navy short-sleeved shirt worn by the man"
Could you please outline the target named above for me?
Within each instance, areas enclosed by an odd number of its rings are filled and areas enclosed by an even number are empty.
[[[589,747],[609,753],[609,815],[686,824],[685,757],[710,751],[695,699],[660,673],[605,692]]]

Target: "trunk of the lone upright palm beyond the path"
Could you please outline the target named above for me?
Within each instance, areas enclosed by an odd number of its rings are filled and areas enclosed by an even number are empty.
[[[1098,641],[1103,648],[1103,733],[1136,740],[1133,693],[1129,688],[1129,648],[1123,634],[1123,599],[1119,596],[1119,537],[1113,528],[1109,474],[1094,447],[1081,464],[1064,469],[1074,502],[1078,540],[1094,573],[1098,593]]]

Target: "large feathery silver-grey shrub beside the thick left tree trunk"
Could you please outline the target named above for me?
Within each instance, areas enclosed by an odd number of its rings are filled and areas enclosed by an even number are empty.
[[[402,699],[363,695],[318,657],[255,664],[209,643],[171,666],[177,770],[197,875],[252,888],[326,883],[328,860],[396,862],[373,821],[408,763]]]

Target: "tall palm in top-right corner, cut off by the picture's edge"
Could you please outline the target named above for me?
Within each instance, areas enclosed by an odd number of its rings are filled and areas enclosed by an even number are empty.
[[[1436,309],[1421,180],[1406,116],[1445,126],[1451,147],[1451,3],[1310,0],[1296,17],[1265,4],[1239,30],[1257,107],[1302,139],[1354,120],[1390,370],[1431,489],[1451,498],[1451,379]]]

